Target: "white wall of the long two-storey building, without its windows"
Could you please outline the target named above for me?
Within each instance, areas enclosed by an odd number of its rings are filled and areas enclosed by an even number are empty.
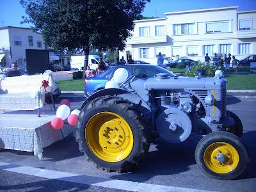
[[[238,60],[241,60],[246,55],[238,55],[238,46],[241,43],[250,43],[250,54],[256,53],[256,11],[254,12],[238,12],[235,7],[228,8],[216,8],[209,10],[196,10],[192,12],[172,12],[166,13],[166,19],[147,19],[136,20],[134,32],[132,38],[134,40],[127,40],[127,47],[124,52],[120,52],[120,57],[126,56],[126,51],[132,52],[132,58],[134,60],[149,61],[150,63],[156,63],[156,47],[165,47],[166,56],[172,57],[172,46],[182,47],[180,56],[188,56],[188,46],[198,46],[198,56],[189,57],[193,60],[204,60],[204,45],[214,45],[214,52],[220,52],[220,44],[230,44],[230,53],[235,55]],[[252,30],[250,31],[238,31],[237,22],[238,19],[252,18]],[[228,20],[230,31],[225,33],[205,33],[205,23],[212,21]],[[173,35],[174,24],[195,23],[196,34],[194,35]],[[159,43],[154,40],[153,37],[147,38],[152,40],[151,43],[145,43],[143,38],[140,38],[139,28],[143,26],[149,26],[150,36],[154,36],[155,26],[165,25],[167,41]],[[239,35],[239,36],[238,36]],[[136,39],[136,40],[135,40]],[[129,43],[131,42],[131,43]],[[144,44],[143,44],[144,42]],[[155,42],[155,43],[154,43]],[[148,58],[140,58],[140,48],[149,48]]]

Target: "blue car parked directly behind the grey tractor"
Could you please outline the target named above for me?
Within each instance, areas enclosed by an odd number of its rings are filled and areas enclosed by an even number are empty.
[[[84,96],[89,97],[92,93],[97,92],[105,88],[105,84],[112,79],[114,72],[118,68],[125,68],[128,71],[128,77],[133,76],[134,74],[145,74],[147,78],[154,77],[159,73],[166,73],[169,76],[175,76],[172,72],[158,67],[156,65],[147,65],[147,64],[134,64],[134,65],[118,65],[111,67],[108,70],[102,72],[95,77],[88,77],[84,81]]]

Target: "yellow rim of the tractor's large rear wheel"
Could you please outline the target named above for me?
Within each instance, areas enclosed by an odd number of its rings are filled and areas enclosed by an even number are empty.
[[[97,113],[86,124],[86,142],[93,154],[103,161],[118,162],[132,151],[131,127],[119,115]]]

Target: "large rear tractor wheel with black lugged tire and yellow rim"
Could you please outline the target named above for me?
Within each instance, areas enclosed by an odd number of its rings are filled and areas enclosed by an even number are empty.
[[[132,170],[148,152],[148,132],[140,111],[128,100],[104,96],[84,106],[76,140],[88,157],[107,171]]]

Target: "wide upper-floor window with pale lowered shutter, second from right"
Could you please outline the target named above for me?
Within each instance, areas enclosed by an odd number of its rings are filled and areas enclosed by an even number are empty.
[[[223,33],[228,31],[231,31],[228,20],[206,23],[206,33]]]

